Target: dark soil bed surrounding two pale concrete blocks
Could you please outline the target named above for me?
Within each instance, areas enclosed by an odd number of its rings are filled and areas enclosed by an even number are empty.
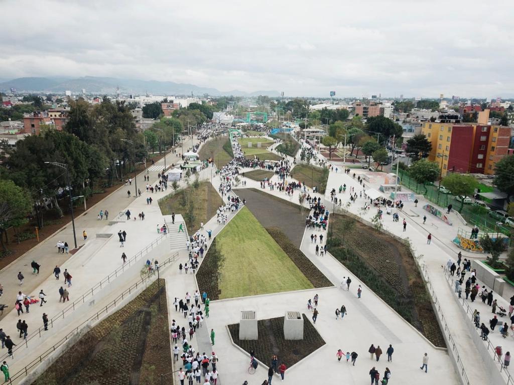
[[[236,345],[247,351],[248,354],[250,350],[253,350],[255,357],[265,365],[268,365],[268,367],[271,356],[276,354],[279,359],[279,365],[284,362],[286,367],[290,368],[325,344],[325,341],[305,314],[302,314],[302,316],[303,340],[286,340],[284,338],[284,317],[258,321],[258,340],[240,340],[238,323],[228,325],[228,328]]]

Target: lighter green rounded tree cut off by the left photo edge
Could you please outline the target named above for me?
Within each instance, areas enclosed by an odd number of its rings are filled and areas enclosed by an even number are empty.
[[[23,188],[13,181],[0,180],[0,244],[4,251],[4,235],[9,227],[27,223],[27,215],[32,210],[32,200]]]

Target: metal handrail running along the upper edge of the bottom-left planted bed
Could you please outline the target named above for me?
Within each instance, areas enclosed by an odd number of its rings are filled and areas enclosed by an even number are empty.
[[[174,262],[176,259],[178,258],[178,252],[176,252],[175,254],[173,254],[170,258],[168,258],[166,261],[164,261],[163,263],[160,263],[159,264],[159,269],[162,269],[163,267],[166,267],[168,266],[169,264],[171,264],[172,262]],[[134,290],[137,290],[137,288],[139,286],[141,286],[142,284],[145,283],[145,281],[149,281],[153,276],[155,276],[155,273],[152,274],[152,275],[147,275],[145,276],[144,278],[141,278],[141,279],[138,279],[137,282],[135,284],[133,284],[132,286],[130,286],[128,289],[126,289],[124,292],[122,292],[120,295],[118,295],[118,297],[116,297],[113,301],[109,302],[106,306],[105,306],[105,309],[103,309],[102,311],[100,312],[97,312],[95,315],[89,317],[88,319],[86,319],[85,321],[83,321],[80,325],[78,325],[74,330],[72,330],[71,332],[69,332],[68,334],[66,334],[66,336],[64,336],[64,338],[62,338],[59,342],[55,343],[51,348],[49,348],[48,350],[46,350],[43,354],[41,354],[38,358],[32,360],[30,363],[28,363],[25,368],[23,368],[22,370],[16,372],[10,379],[9,379],[9,383],[12,384],[12,380],[15,380],[17,378],[20,378],[22,376],[27,376],[28,373],[29,373],[29,370],[32,369],[35,365],[38,365],[40,364],[41,362],[43,362],[43,359],[48,357],[50,354],[52,354],[53,352],[56,351],[57,348],[59,348],[64,342],[66,342],[70,337],[72,337],[75,333],[78,333],[79,329],[82,328],[82,326],[84,326],[87,322],[89,321],[93,321],[94,319],[96,319],[97,321],[100,320],[100,316],[104,313],[108,313],[109,309],[111,309],[112,307],[115,307],[116,306],[116,302],[120,302],[120,300],[122,301],[124,299],[125,296],[127,295],[130,295],[132,294],[132,292]],[[23,345],[21,345],[23,346]],[[17,350],[17,349],[16,349]],[[15,351],[15,350],[13,350]],[[4,357],[5,359],[6,357]]]

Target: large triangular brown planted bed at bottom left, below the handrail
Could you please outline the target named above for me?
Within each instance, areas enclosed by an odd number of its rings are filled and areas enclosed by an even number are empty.
[[[72,345],[33,385],[158,383],[171,369],[164,280],[157,281]]]

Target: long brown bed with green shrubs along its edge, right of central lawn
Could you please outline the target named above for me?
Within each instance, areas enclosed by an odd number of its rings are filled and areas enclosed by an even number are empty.
[[[409,247],[359,221],[348,228],[344,223],[351,219],[344,215],[331,220],[335,220],[334,239],[328,240],[328,251],[434,345],[445,347]]]

